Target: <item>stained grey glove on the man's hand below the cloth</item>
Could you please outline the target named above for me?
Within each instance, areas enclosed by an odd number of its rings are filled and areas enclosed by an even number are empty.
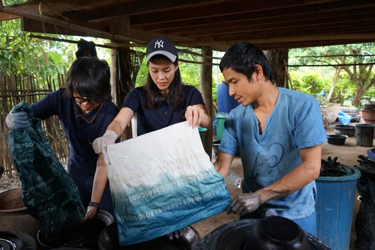
[[[235,198],[232,200],[232,203],[226,209],[226,212],[244,215],[256,210],[260,205],[261,203],[258,193],[241,193],[235,196]]]

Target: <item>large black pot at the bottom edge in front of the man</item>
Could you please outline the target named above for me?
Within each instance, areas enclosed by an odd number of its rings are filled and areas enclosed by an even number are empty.
[[[281,219],[280,219],[281,218]],[[268,220],[270,219],[270,220]],[[262,220],[265,220],[261,222]],[[290,223],[291,221],[291,223]],[[294,224],[293,224],[294,223]],[[193,245],[193,250],[328,250],[321,241],[284,217],[241,219],[223,224]],[[294,229],[290,229],[290,226]],[[286,229],[285,229],[286,228]],[[286,241],[286,242],[285,242]],[[286,248],[277,248],[280,243]],[[308,248],[288,248],[288,247]]]

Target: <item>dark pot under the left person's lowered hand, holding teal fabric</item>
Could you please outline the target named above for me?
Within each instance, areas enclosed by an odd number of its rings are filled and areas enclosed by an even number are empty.
[[[37,234],[37,241],[40,245],[47,249],[58,248],[88,248],[91,250],[98,249],[97,238],[102,230],[113,223],[112,214],[104,210],[98,210],[89,223],[78,223],[75,228],[61,233],[61,236],[46,241]]]

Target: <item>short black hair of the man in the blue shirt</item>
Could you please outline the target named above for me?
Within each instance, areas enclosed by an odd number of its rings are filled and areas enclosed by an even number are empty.
[[[258,64],[263,69],[266,80],[272,80],[272,69],[267,57],[260,48],[246,41],[238,42],[231,46],[221,58],[220,70],[231,68],[235,72],[242,73],[251,79]]]

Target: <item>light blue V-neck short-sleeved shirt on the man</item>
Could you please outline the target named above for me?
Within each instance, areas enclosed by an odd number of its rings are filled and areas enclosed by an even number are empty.
[[[219,149],[239,151],[244,192],[268,186],[302,163],[299,150],[325,142],[320,107],[310,95],[279,87],[276,105],[262,134],[253,106],[239,105],[228,115]],[[269,200],[260,209],[274,208],[278,215],[298,219],[314,211],[315,181],[284,197]]]

